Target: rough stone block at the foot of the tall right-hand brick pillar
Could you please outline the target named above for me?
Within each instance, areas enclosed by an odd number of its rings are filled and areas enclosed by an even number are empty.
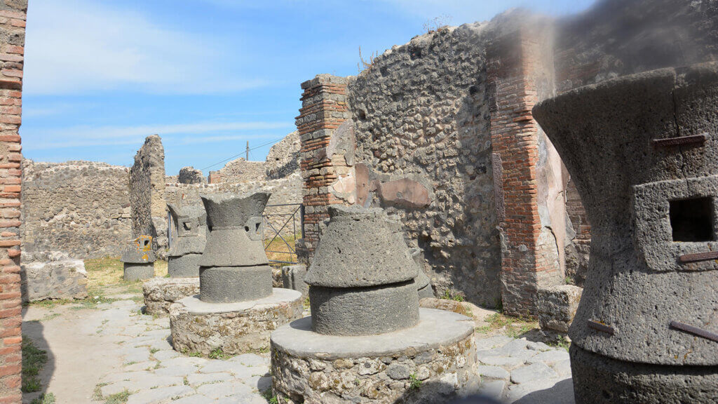
[[[582,288],[574,285],[538,289],[538,324],[541,330],[567,334],[581,300]]]

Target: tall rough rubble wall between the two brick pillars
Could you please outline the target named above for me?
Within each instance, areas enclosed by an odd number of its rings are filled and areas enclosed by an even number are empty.
[[[348,85],[358,201],[404,221],[432,284],[500,302],[483,24],[394,46]]]

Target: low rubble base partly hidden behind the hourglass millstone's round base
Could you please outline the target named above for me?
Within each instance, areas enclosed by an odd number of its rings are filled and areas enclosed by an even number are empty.
[[[200,293],[199,277],[154,277],[142,285],[145,312],[167,316],[172,303]]]

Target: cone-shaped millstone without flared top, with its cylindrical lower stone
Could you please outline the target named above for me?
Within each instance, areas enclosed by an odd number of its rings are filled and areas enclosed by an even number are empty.
[[[415,326],[416,264],[398,226],[378,208],[330,207],[329,214],[304,277],[312,329],[370,335]]]

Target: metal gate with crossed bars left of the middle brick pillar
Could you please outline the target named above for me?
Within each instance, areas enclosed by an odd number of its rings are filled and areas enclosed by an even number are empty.
[[[304,237],[304,205],[281,203],[264,208],[264,252],[269,262],[297,264],[294,242]]]

